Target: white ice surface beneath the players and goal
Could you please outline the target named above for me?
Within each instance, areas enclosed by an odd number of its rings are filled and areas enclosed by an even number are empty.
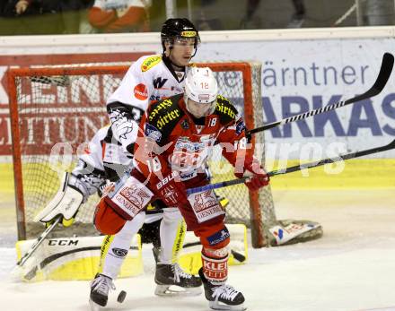
[[[309,243],[250,249],[249,262],[230,267],[229,283],[256,311],[395,310],[395,195],[375,191],[275,191],[277,218],[319,221],[324,237]],[[4,210],[0,212],[4,218]],[[87,281],[22,283],[10,280],[14,236],[0,225],[1,310],[89,310]],[[204,296],[154,296],[154,261],[144,247],[145,273],[116,281],[127,291],[112,310],[207,310]]]

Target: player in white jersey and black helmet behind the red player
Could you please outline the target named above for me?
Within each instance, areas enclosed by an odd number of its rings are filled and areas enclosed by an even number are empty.
[[[169,19],[164,22],[161,31],[162,56],[143,56],[135,64],[131,65],[118,89],[110,95],[107,101],[107,111],[110,116],[111,127],[106,137],[108,145],[121,148],[127,155],[133,154],[134,144],[140,118],[152,100],[170,97],[183,91],[184,74],[190,59],[195,56],[200,41],[198,30],[187,19]],[[103,162],[110,179],[118,179],[123,175],[122,169],[111,167],[107,163],[104,151]],[[111,152],[113,153],[113,152]],[[110,158],[113,158],[113,154]],[[132,228],[139,228],[144,222],[143,217],[130,221],[115,235],[131,237]],[[159,263],[156,265],[155,282],[157,288],[155,294],[171,294],[171,285],[177,285],[188,293],[200,292],[201,281],[198,277],[183,272],[180,266],[174,262],[171,250],[177,235],[177,229],[182,221],[182,216],[176,207],[163,209],[161,223],[162,251],[159,255]],[[136,230],[135,230],[136,231]],[[132,232],[133,234],[136,232]],[[113,242],[114,243],[114,242]],[[123,258],[122,258],[123,260]],[[119,261],[117,270],[122,262]],[[107,266],[108,263],[104,263]],[[113,275],[113,274],[112,274]],[[106,280],[104,271],[92,282],[91,299],[101,305],[101,284]],[[198,290],[193,290],[197,289]],[[106,295],[104,295],[106,296]]]

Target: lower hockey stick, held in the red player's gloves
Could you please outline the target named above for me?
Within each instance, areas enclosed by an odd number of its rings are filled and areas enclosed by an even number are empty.
[[[268,172],[268,176],[272,177],[272,176],[276,176],[276,175],[288,174],[288,173],[296,172],[298,170],[302,170],[304,168],[316,168],[316,167],[320,167],[324,164],[335,163],[335,162],[338,162],[341,160],[355,159],[355,158],[363,157],[368,154],[373,154],[373,153],[382,152],[382,151],[389,151],[391,149],[395,149],[395,140],[393,140],[391,143],[386,144],[381,147],[375,147],[375,148],[367,149],[364,151],[355,151],[355,152],[347,153],[347,154],[340,155],[337,158],[333,158],[333,159],[328,158],[328,159],[313,161],[313,162],[309,162],[309,163],[304,163],[301,165],[295,165],[294,167],[290,167],[290,168],[282,168],[282,169],[272,170],[271,172]],[[198,192],[202,192],[202,191],[206,191],[206,190],[214,190],[214,189],[218,189],[218,188],[223,188],[224,186],[239,185],[239,184],[246,182],[249,178],[250,177],[242,177],[242,178],[238,178],[238,179],[223,181],[223,182],[216,183],[216,184],[211,184],[211,185],[206,185],[206,186],[198,186],[195,188],[189,188],[189,189],[187,189],[187,194],[188,195],[189,194],[196,194]]]

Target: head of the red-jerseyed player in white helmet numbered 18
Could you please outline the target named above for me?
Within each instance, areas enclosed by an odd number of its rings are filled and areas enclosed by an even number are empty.
[[[185,103],[195,117],[204,117],[214,112],[218,84],[208,67],[191,67],[185,78]],[[190,100],[189,100],[190,99]]]

